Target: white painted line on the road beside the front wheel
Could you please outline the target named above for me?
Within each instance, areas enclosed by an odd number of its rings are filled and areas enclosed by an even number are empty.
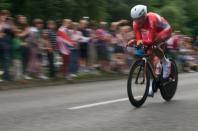
[[[139,97],[142,97],[142,96],[137,96],[137,98],[139,98]],[[82,106],[75,106],[75,107],[71,107],[71,108],[67,108],[67,109],[78,110],[78,109],[84,109],[84,108],[89,108],[89,107],[94,107],[94,106],[99,106],[99,105],[106,105],[106,104],[110,104],[110,103],[116,103],[116,102],[127,101],[127,100],[129,100],[129,99],[128,98],[121,98],[121,99],[103,101],[103,102],[98,102],[98,103],[82,105]]]

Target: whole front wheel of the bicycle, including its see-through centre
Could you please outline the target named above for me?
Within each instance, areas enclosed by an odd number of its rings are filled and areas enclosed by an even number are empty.
[[[145,68],[145,61],[138,60],[130,69],[127,81],[127,92],[129,101],[135,107],[140,107],[148,95],[150,75]]]

